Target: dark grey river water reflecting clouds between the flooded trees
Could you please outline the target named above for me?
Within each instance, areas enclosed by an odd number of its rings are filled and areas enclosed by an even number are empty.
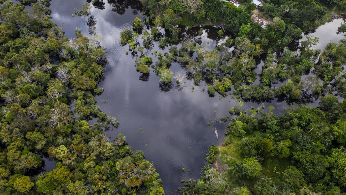
[[[75,37],[76,28],[81,29],[84,36],[93,38],[88,33],[89,27],[86,19],[79,16],[72,17],[74,9],[82,8],[85,0],[52,0],[52,21],[64,29],[67,37]],[[194,86],[193,81],[186,79],[182,88],[176,88],[173,81],[172,88],[167,91],[167,86],[161,86],[159,78],[151,69],[148,78],[140,79],[140,73],[136,71],[135,59],[125,51],[128,46],[120,45],[120,32],[125,28],[131,28],[131,22],[139,17],[140,5],[135,1],[103,0],[104,5],[92,7],[91,13],[96,22],[96,32],[102,36],[101,45],[106,48],[108,65],[105,67],[104,79],[98,87],[103,87],[102,95],[96,99],[102,111],[108,115],[117,117],[120,122],[118,129],[107,132],[112,141],[119,133],[126,135],[126,140],[135,150],[142,150],[145,158],[154,163],[157,172],[163,181],[166,194],[171,194],[177,187],[182,186],[180,181],[185,179],[197,179],[203,168],[208,145],[215,143],[220,145],[227,128],[227,123],[212,122],[215,119],[229,115],[228,110],[237,105],[237,100],[225,97],[219,100],[218,95],[209,97],[207,91],[202,91],[201,86]],[[320,43],[316,48],[323,49],[333,40],[337,42],[344,36],[336,34],[337,27],[342,19],[327,23],[312,33],[320,37]],[[196,29],[199,29],[196,28]],[[202,35],[202,44],[206,50],[212,50],[216,44],[215,31],[208,29]],[[197,31],[188,32],[193,35]],[[208,44],[209,42],[209,44]],[[179,46],[179,45],[178,45]],[[147,53],[147,56],[156,61],[151,52],[164,53],[158,48],[158,44]],[[167,50],[167,48],[166,48]],[[258,64],[261,70],[262,63]],[[174,73],[185,75],[185,71],[179,64],[173,63],[171,67]],[[143,81],[147,80],[147,81]],[[195,87],[193,92],[191,87]],[[107,100],[108,103],[103,103]],[[254,103],[245,102],[244,108],[273,105],[276,113],[280,114],[288,106],[285,101]],[[311,104],[314,106],[314,104]],[[216,113],[214,113],[214,110]],[[211,126],[207,123],[211,122]],[[218,129],[217,140],[214,127]],[[143,131],[140,131],[143,128]],[[185,172],[182,172],[185,168]],[[190,172],[186,171],[190,169]]]

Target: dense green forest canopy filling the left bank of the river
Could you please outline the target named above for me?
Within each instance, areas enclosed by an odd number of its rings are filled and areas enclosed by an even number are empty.
[[[0,194],[164,194],[142,151],[106,138],[119,125],[95,105],[106,52],[78,30],[64,37],[47,3],[0,8]]]

